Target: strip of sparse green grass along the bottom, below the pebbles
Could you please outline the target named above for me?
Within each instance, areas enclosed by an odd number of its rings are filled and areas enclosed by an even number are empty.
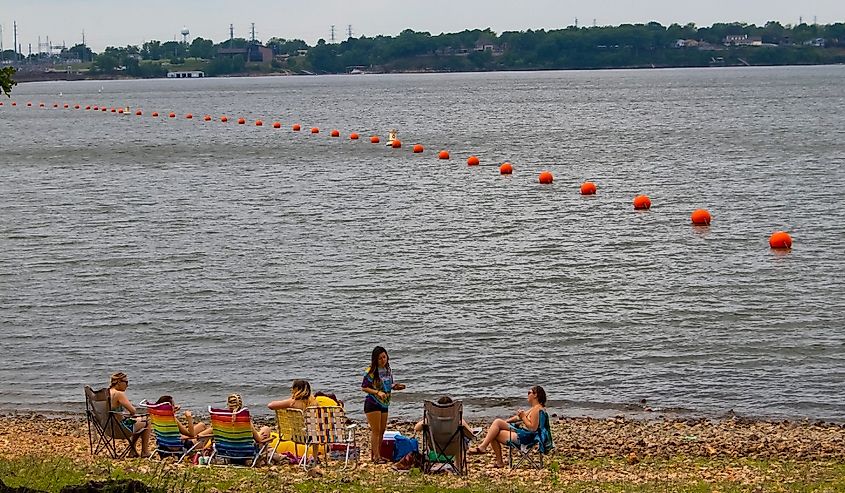
[[[714,471],[717,474],[714,475]],[[601,479],[601,474],[607,472],[628,474],[631,479]],[[593,473],[598,474],[597,479],[584,479],[585,474],[589,478]],[[246,469],[174,467],[169,463],[143,460],[112,462],[101,459],[91,462],[87,458],[77,461],[45,457],[0,459],[0,479],[8,486],[26,486],[49,492],[58,492],[64,486],[84,484],[90,480],[134,479],[156,492],[168,493],[203,493],[212,490],[245,493],[845,493],[843,463],[681,457],[628,465],[622,459],[568,459],[551,462],[544,472],[524,470],[509,474],[488,476],[486,472],[480,472],[469,479],[461,479],[454,476],[424,476],[418,470],[403,474],[369,469],[344,473],[332,469],[324,477],[309,478],[294,466]],[[705,477],[716,479],[707,481],[703,479]]]

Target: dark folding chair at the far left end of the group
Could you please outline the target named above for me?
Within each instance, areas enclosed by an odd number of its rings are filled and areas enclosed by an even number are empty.
[[[106,452],[112,459],[122,459],[135,451],[135,443],[143,435],[143,430],[134,433],[123,426],[123,415],[111,410],[108,388],[94,391],[85,386],[85,416],[91,455]],[[120,443],[122,441],[126,441],[125,446]]]

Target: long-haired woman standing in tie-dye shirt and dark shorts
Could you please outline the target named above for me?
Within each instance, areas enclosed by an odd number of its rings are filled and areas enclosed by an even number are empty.
[[[405,385],[394,383],[393,372],[390,371],[390,359],[387,351],[376,346],[370,358],[370,367],[364,373],[361,390],[367,397],[364,399],[364,414],[370,425],[370,458],[376,464],[383,464],[380,447],[387,428],[387,411],[390,406],[390,393],[394,390],[404,390]]]

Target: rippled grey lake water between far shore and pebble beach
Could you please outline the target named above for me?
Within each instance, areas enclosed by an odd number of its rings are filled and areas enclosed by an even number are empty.
[[[360,417],[383,345],[408,385],[394,416],[443,393],[491,416],[540,384],[567,415],[845,420],[845,67],[34,83],[4,102],[2,410],[81,410],[125,371],[133,400],[197,410],[240,392],[264,412],[307,378]],[[391,128],[402,149],[369,143]]]

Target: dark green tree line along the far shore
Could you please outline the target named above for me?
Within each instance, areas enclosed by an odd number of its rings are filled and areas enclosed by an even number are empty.
[[[727,36],[743,35],[762,46],[725,46]],[[678,40],[693,40],[696,46],[685,48]],[[340,43],[320,39],[314,46],[273,37],[264,44],[274,54],[269,64],[220,55],[221,49],[256,43],[243,38],[215,43],[198,37],[187,44],[153,40],[141,46],[110,46],[102,53],[78,44],[63,55],[91,61],[97,73],[121,70],[135,77],[160,77],[168,66],[186,63],[212,76],[285,70],[343,73],[350,68],[403,72],[695,67],[725,58],[750,65],[845,63],[845,23],[792,26],[770,21],[763,26],[734,22],[697,27],[649,22],[501,34],[487,28],[439,35],[406,29],[396,36],[361,36]]]

